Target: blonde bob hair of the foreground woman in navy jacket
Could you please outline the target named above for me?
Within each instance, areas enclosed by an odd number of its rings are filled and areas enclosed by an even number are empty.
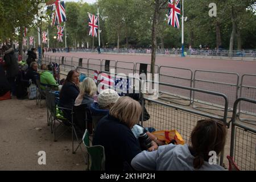
[[[139,102],[130,97],[120,97],[109,111],[110,115],[119,119],[129,128],[139,122],[141,113],[142,107]]]

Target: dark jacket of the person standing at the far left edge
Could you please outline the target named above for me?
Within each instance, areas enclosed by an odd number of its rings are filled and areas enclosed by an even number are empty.
[[[6,77],[13,78],[18,75],[19,65],[18,58],[15,56],[14,49],[10,48],[5,52],[5,56],[3,57],[6,64]]]

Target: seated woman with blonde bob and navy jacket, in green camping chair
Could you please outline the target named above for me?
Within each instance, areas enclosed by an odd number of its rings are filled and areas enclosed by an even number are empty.
[[[142,108],[130,97],[120,97],[109,115],[98,123],[93,145],[105,148],[106,171],[123,171],[141,148],[131,128],[139,122]]]

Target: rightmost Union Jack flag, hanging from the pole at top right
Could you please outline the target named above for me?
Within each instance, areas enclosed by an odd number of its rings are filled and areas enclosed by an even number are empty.
[[[168,24],[180,28],[180,0],[169,0]]]

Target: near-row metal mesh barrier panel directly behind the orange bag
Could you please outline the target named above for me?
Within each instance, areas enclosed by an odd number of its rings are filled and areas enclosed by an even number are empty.
[[[228,99],[224,94],[166,83],[159,83],[159,85],[170,86],[173,88],[179,88],[189,91],[191,90],[193,92],[207,94],[208,96],[213,95],[216,97],[220,97],[224,102],[223,105],[225,106],[225,109],[220,115],[208,114],[204,113],[203,111],[192,109],[191,107],[177,106],[164,103],[160,100],[152,100],[150,97],[147,97],[145,94],[143,94],[143,115],[146,114],[146,110],[150,115],[150,119],[148,119],[148,121],[142,122],[143,127],[154,127],[156,131],[177,130],[183,137],[184,141],[186,143],[189,143],[191,131],[193,130],[193,127],[196,126],[197,121],[201,119],[219,119],[220,121],[228,125],[228,123],[226,122],[226,117],[228,113]],[[142,83],[142,88],[143,87],[144,83]],[[144,108],[146,108],[146,110],[144,110]],[[142,118],[143,117],[144,116],[142,116]],[[220,162],[223,162],[223,155]]]

